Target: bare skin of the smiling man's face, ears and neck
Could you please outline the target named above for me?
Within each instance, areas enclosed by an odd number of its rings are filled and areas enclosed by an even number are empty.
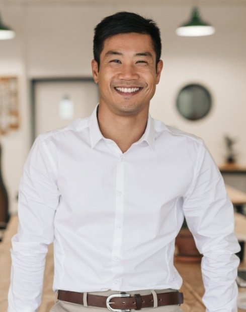
[[[105,39],[100,62],[92,61],[100,89],[99,127],[122,152],[145,131],[150,99],[162,69],[156,57],[150,35],[131,32]]]

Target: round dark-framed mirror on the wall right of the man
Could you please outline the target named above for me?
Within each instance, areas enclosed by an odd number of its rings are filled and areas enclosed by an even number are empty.
[[[198,84],[190,84],[181,89],[176,105],[180,114],[189,120],[205,117],[211,109],[209,91]]]

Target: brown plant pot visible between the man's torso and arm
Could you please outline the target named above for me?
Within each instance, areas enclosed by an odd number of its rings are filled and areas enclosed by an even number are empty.
[[[196,247],[194,237],[188,228],[186,219],[184,220],[181,230],[176,237],[175,244],[178,249],[178,254],[175,256],[176,261],[188,263],[201,261],[202,255]]]

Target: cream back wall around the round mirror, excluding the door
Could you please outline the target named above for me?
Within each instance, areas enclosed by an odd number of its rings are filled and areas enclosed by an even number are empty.
[[[223,135],[235,137],[238,162],[246,164],[246,4],[201,3],[201,14],[216,33],[198,38],[175,34],[190,15],[189,3],[10,4],[3,7],[2,16],[17,36],[0,41],[0,75],[20,79],[21,127],[0,140],[11,211],[16,210],[15,197],[30,148],[29,79],[91,76],[93,29],[103,17],[121,10],[153,18],[161,29],[165,65],[151,114],[201,136],[217,163],[223,162]],[[212,94],[212,111],[201,121],[186,121],[175,108],[177,93],[187,83],[202,83]]]

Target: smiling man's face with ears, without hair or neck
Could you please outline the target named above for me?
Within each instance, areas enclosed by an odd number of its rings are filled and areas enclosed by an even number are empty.
[[[157,64],[149,35],[126,33],[107,38],[100,55],[100,70],[92,61],[93,77],[100,89],[100,106],[117,115],[148,111],[159,82],[162,61]]]

